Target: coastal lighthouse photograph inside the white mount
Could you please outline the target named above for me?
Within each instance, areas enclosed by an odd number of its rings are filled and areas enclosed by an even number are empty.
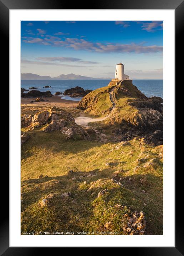
[[[163,34],[20,21],[22,236],[163,235]]]

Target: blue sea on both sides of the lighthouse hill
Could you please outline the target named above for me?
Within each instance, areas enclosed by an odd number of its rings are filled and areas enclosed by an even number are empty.
[[[21,80],[21,88],[29,90],[37,87],[40,92],[50,90],[52,94],[64,92],[66,89],[80,86],[83,89],[95,90],[107,86],[111,80]],[[133,80],[133,84],[147,97],[161,97],[163,99],[163,80]],[[50,88],[44,88],[49,85]],[[82,98],[71,98],[70,96],[58,95],[62,99],[79,101]]]

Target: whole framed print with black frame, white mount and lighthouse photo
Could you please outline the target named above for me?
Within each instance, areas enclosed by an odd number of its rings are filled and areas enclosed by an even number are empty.
[[[0,4],[10,60],[2,255],[31,255],[34,247],[182,255],[175,213],[182,1]]]

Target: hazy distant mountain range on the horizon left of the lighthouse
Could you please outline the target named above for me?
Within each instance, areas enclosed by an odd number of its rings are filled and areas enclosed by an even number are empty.
[[[40,76],[32,73],[21,73],[21,80],[96,80],[96,79],[111,79],[107,78],[93,78],[93,77],[84,77],[82,75],[68,74],[68,75],[59,75],[58,77],[49,77],[48,75]]]

